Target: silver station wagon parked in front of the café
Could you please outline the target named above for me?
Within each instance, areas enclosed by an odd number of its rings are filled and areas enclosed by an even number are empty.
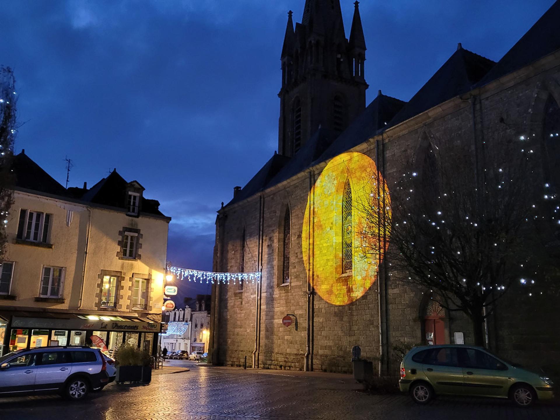
[[[109,383],[99,349],[81,346],[22,349],[0,357],[0,396],[60,394],[81,400]]]

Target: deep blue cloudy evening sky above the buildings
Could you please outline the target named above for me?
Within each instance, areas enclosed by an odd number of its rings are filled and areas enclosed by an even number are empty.
[[[349,35],[353,0],[341,0]],[[457,43],[498,60],[553,0],[363,0],[367,103],[409,100]],[[210,270],[220,203],[278,146],[287,11],[304,0],[0,0],[16,153],[61,184],[116,170],[171,216],[168,259]],[[183,295],[209,292],[206,287]]]

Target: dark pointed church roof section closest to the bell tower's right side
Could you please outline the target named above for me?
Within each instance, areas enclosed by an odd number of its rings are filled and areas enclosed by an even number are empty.
[[[406,103],[400,99],[383,95],[379,91],[377,97],[367,106],[365,111],[358,115],[354,122],[340,134],[314,164],[338,156],[340,153],[344,153],[373,137],[386,127],[385,123],[388,123]]]

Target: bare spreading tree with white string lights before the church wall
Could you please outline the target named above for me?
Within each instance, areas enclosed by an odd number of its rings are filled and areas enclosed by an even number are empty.
[[[551,217],[557,197],[543,192],[535,144],[506,128],[487,143],[473,150],[461,139],[426,142],[389,185],[390,199],[372,191],[355,204],[368,220],[361,227],[363,258],[379,259],[381,237],[390,235],[383,256],[391,279],[431,290],[442,307],[464,312],[479,346],[494,302],[514,282],[534,282],[524,272],[544,267],[543,250],[552,242],[539,229],[550,232],[558,223]],[[380,184],[378,174],[372,182]]]

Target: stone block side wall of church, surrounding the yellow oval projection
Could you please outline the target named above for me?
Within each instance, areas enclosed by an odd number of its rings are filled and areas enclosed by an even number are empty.
[[[558,57],[557,57],[558,60]],[[496,133],[503,132],[503,124],[509,127],[508,135],[515,141],[516,136],[529,134],[538,125],[538,116],[533,113],[539,104],[539,97],[557,89],[553,81],[560,80],[558,67],[549,61],[521,69],[512,75],[492,82],[482,92],[482,104],[476,105],[476,119],[484,128],[484,138],[492,144]],[[547,70],[543,70],[547,67]],[[543,92],[545,92],[543,94]],[[557,101],[558,91],[552,92]],[[481,118],[482,115],[482,118]],[[437,146],[441,142],[458,141],[472,143],[473,120],[468,95],[465,100],[452,99],[429,110],[416,118],[389,129],[382,136],[385,157],[385,178],[389,186],[402,174],[403,165],[414,160],[416,153],[427,141]],[[534,119],[536,118],[536,122]],[[531,123],[531,121],[533,121]],[[531,125],[533,124],[533,125]],[[536,129],[536,128],[535,128]],[[493,137],[494,136],[494,137]],[[362,144],[354,150],[376,156],[375,142]],[[381,154],[381,153],[380,153]],[[323,166],[316,169],[316,175]],[[381,162],[378,162],[381,169]],[[306,281],[307,272],[301,247],[301,231],[306,208],[309,178],[307,173],[274,186],[263,193],[264,197],[264,239],[263,239],[263,291],[260,327],[259,366],[302,370],[306,351]],[[291,283],[279,286],[279,223],[286,206],[291,212]],[[237,271],[240,264],[240,240],[242,229],[246,230],[245,270],[258,270],[259,237],[259,197],[226,207],[225,243],[223,254],[224,270]],[[317,250],[316,252],[320,252]],[[346,306],[335,306],[324,301],[319,295],[313,296],[312,312],[312,357],[311,366],[318,371],[351,371],[351,349],[354,345],[362,348],[362,357],[377,361],[379,358],[379,307],[377,287],[382,287],[382,320],[385,348],[389,354],[386,369],[395,374],[398,371],[398,357],[393,346],[399,343],[416,344],[423,342],[422,305],[426,295],[412,290],[398,281],[398,276],[388,269],[370,290],[357,301]],[[255,346],[255,304],[256,287],[245,286],[244,291],[235,287],[222,288],[220,297],[219,342],[220,362],[225,365],[240,366],[244,357],[251,361]],[[424,291],[428,293],[428,291]],[[551,331],[552,321],[558,324],[558,310],[554,319],[543,305],[527,302],[522,310],[516,307],[513,297],[505,297],[498,304],[496,316],[489,320],[491,347],[498,354],[516,360],[538,357],[546,363],[553,363],[560,356],[557,330]],[[286,328],[281,320],[286,314],[297,316],[295,326]],[[465,343],[473,343],[470,321],[460,312],[446,314],[447,342],[454,342],[454,333],[463,332]],[[385,341],[386,340],[386,341]],[[374,363],[375,366],[375,363]]]

